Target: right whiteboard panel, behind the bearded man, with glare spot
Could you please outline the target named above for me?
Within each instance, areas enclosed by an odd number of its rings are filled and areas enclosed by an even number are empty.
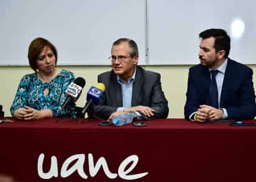
[[[231,36],[229,57],[256,63],[256,1],[148,0],[150,65],[199,63],[199,32],[209,28],[227,30]],[[244,22],[241,37],[233,34],[234,20]]]

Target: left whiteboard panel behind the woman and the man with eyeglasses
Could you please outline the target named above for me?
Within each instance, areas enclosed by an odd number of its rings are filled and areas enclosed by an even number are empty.
[[[134,39],[145,64],[144,0],[1,0],[0,65],[28,65],[36,37],[58,50],[58,65],[110,65],[114,40]]]

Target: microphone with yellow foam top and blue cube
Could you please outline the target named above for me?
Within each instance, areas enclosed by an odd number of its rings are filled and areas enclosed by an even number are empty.
[[[99,105],[99,99],[103,95],[104,91],[105,91],[105,85],[103,83],[97,83],[96,86],[91,86],[91,88],[87,93],[87,98],[86,98],[87,102],[85,104],[85,107],[83,107],[83,110],[81,111],[83,115],[85,115],[91,103],[95,105]]]

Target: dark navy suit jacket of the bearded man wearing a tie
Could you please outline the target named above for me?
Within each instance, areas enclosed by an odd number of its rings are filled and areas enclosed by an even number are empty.
[[[254,119],[256,112],[253,71],[248,66],[227,59],[222,84],[220,107],[227,109],[227,119]],[[192,66],[188,74],[185,119],[189,119],[199,105],[206,104],[209,93],[210,73],[207,66]]]

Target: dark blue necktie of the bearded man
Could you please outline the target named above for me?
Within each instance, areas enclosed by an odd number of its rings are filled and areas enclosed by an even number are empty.
[[[217,83],[216,83],[216,75],[219,72],[218,70],[211,70],[211,82],[209,85],[209,106],[213,106],[219,109],[219,102],[218,102],[218,94],[217,94]]]

